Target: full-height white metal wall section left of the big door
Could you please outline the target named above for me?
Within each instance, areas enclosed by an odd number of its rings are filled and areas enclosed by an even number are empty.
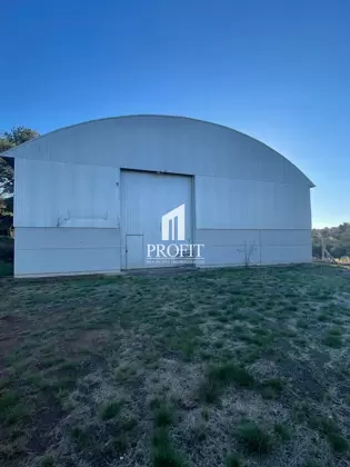
[[[14,272],[120,269],[119,169],[18,159]]]

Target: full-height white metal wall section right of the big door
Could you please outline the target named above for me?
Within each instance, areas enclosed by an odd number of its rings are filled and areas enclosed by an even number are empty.
[[[206,245],[207,266],[311,260],[306,186],[199,176],[196,220],[196,240]]]

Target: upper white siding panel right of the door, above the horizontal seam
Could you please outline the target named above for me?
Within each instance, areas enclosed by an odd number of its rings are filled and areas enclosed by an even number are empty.
[[[198,229],[311,229],[310,190],[261,180],[196,177]]]

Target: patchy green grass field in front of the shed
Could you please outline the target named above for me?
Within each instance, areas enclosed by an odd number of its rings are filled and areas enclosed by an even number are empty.
[[[333,267],[0,281],[0,465],[349,466]]]

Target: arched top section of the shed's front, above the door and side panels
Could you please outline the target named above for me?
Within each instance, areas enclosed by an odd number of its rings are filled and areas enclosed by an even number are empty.
[[[157,159],[157,163],[149,160],[149,167],[142,166],[142,159],[154,155]],[[314,186],[292,162],[263,142],[188,117],[139,115],[90,120],[42,135],[2,156],[113,167],[120,162],[126,168],[133,159],[137,167],[130,168],[197,173],[198,167],[204,175],[232,172],[243,179]],[[189,165],[187,170],[177,169],[177,159],[179,167]]]

